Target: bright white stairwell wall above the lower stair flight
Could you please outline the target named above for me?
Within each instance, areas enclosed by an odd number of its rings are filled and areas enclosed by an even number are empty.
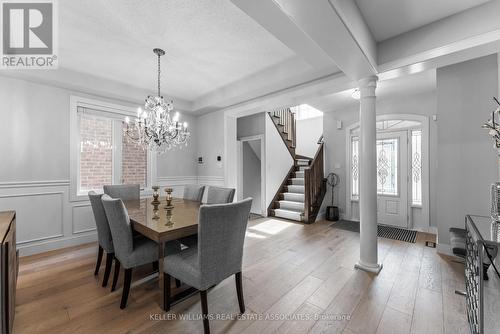
[[[318,139],[323,133],[323,116],[297,120],[296,130],[295,153],[314,158],[318,150]]]

